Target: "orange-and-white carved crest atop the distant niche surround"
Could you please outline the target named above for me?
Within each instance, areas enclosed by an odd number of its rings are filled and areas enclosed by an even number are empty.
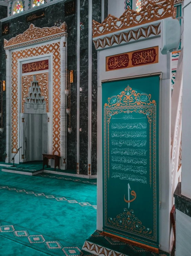
[[[24,33],[12,37],[9,41],[4,39],[4,49],[8,50],[28,44],[39,43],[53,38],[67,36],[67,25],[62,23],[60,27],[35,27],[33,24]]]

